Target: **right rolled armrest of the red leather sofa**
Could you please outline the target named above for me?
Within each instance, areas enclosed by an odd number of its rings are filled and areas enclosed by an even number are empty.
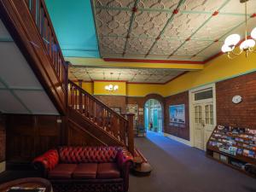
[[[124,189],[129,188],[129,173],[133,163],[132,155],[126,149],[120,149],[117,154],[117,164],[121,171],[121,176],[124,178]]]

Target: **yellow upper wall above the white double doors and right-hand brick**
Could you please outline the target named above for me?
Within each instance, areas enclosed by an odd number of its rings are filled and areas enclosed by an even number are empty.
[[[239,55],[230,60],[221,55],[209,61],[203,70],[189,72],[165,85],[163,96],[172,96],[178,92],[189,90],[203,84],[210,84],[238,75],[256,71],[256,54]]]

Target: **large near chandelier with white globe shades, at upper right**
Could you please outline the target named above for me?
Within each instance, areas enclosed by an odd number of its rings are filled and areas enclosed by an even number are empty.
[[[235,50],[236,45],[240,42],[240,35],[232,34],[228,36],[225,41],[224,45],[222,46],[221,50],[228,55],[230,59],[235,58],[237,55],[241,55],[241,53],[245,52],[246,57],[249,53],[256,53],[254,46],[256,40],[256,27],[254,27],[253,31],[251,32],[251,38],[247,38],[247,1],[248,0],[240,0],[240,3],[245,4],[245,39],[241,42],[239,46],[239,50]],[[255,39],[255,40],[253,40]]]

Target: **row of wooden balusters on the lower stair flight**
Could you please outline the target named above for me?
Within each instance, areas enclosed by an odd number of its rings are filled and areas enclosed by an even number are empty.
[[[84,118],[107,131],[119,142],[126,144],[128,121],[123,116],[91,96],[78,84],[69,80],[68,87],[68,107],[77,110]]]

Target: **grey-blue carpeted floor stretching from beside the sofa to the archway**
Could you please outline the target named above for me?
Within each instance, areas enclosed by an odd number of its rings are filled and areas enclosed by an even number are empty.
[[[255,179],[217,161],[203,151],[153,132],[137,138],[148,159],[149,177],[130,177],[129,192],[255,192]]]

